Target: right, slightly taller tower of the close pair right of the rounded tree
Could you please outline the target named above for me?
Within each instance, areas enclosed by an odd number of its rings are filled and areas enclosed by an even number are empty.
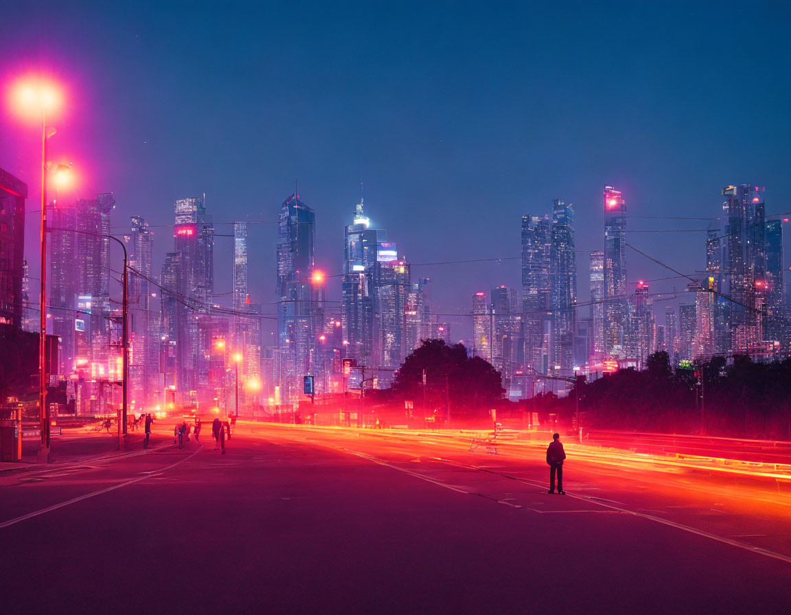
[[[577,317],[577,252],[574,210],[559,199],[552,202],[551,228],[551,357],[554,372],[571,377],[574,368],[574,322]]]

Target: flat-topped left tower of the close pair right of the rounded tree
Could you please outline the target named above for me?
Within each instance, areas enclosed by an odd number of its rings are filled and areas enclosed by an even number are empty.
[[[522,216],[522,338],[524,372],[549,367],[551,224],[547,216]]]

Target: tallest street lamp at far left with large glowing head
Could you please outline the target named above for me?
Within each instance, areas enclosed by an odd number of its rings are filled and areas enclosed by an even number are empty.
[[[60,89],[44,77],[24,77],[12,89],[12,106],[17,115],[41,123],[41,272],[39,276],[39,419],[41,447],[39,462],[49,457],[49,412],[47,408],[47,139],[55,128],[47,128],[47,113],[62,103]]]

